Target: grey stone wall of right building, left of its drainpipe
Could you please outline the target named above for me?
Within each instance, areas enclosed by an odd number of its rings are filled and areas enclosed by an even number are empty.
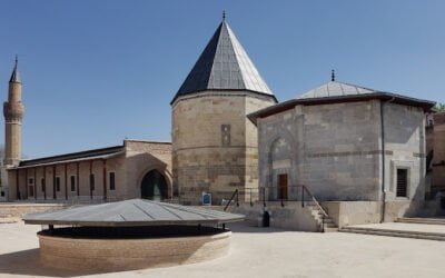
[[[364,101],[297,106],[260,119],[261,187],[276,188],[277,175],[288,173],[290,187],[305,185],[319,200],[376,199],[377,111],[377,101]]]

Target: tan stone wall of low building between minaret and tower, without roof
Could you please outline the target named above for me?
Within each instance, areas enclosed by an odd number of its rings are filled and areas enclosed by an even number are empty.
[[[141,180],[152,169],[159,170],[165,176],[171,196],[171,143],[126,140],[122,152],[107,159],[68,163],[61,161],[55,165],[9,170],[9,196],[11,200],[17,199],[18,183],[21,199],[37,201],[66,201],[67,199],[99,201],[105,195],[110,200],[140,198]],[[115,173],[115,189],[110,187],[110,172]],[[92,192],[90,191],[90,173],[95,177]],[[56,191],[55,177],[60,179],[60,190],[56,189]],[[75,190],[71,190],[71,177],[75,177]],[[44,179],[46,192],[42,179]],[[30,193],[31,186],[33,196]]]

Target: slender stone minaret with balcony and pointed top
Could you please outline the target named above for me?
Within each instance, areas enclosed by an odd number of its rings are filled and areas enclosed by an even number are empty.
[[[4,166],[17,166],[21,158],[21,120],[24,107],[21,102],[21,81],[18,59],[9,80],[8,101],[3,103],[4,116]]]

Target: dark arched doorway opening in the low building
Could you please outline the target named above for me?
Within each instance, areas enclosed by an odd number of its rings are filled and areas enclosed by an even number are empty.
[[[151,170],[144,176],[140,185],[140,198],[157,201],[168,198],[168,183],[162,173]]]

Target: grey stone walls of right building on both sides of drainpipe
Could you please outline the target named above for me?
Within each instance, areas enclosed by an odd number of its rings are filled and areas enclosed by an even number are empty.
[[[300,105],[258,119],[260,187],[273,192],[278,175],[287,173],[290,187],[305,185],[318,200],[379,200],[380,105],[379,100]],[[408,199],[423,198],[424,112],[386,103],[384,120],[387,199],[395,199],[397,167],[409,168]]]

